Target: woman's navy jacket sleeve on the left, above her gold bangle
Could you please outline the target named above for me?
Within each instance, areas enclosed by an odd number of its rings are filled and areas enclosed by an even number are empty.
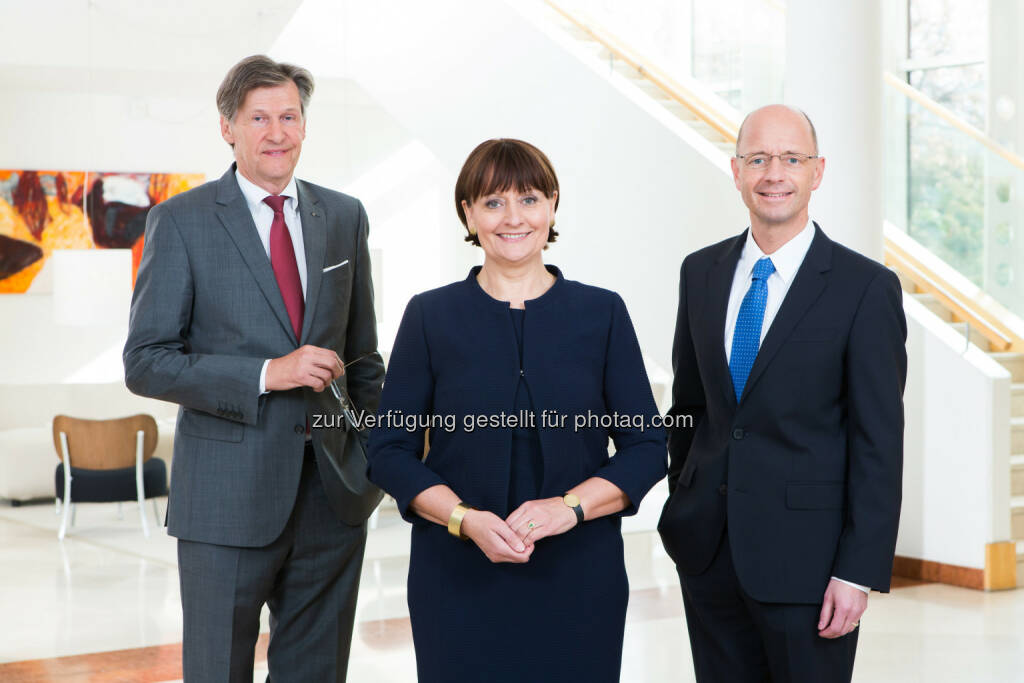
[[[370,434],[367,450],[367,476],[394,497],[402,518],[428,523],[411,512],[409,504],[430,486],[447,482],[423,463],[426,430],[408,430],[389,420],[389,416],[419,417],[433,411],[434,377],[423,325],[423,309],[415,296],[406,307],[391,350],[377,414],[380,422]]]

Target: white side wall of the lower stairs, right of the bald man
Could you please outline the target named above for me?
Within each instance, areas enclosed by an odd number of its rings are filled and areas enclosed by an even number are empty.
[[[912,298],[896,553],[984,568],[1010,540],[1010,374]]]

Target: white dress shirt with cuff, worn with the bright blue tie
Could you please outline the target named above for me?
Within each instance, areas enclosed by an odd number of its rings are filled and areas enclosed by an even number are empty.
[[[768,280],[765,282],[768,286],[768,301],[765,303],[765,316],[761,324],[761,339],[758,342],[760,345],[765,340],[765,335],[768,334],[768,330],[771,328],[771,324],[775,319],[775,315],[778,313],[778,309],[782,305],[786,293],[790,291],[790,286],[793,285],[793,281],[797,276],[797,271],[800,270],[800,266],[804,262],[804,257],[807,256],[807,251],[811,248],[811,242],[813,241],[814,223],[810,220],[807,221],[804,229],[775,250],[775,253],[771,255],[761,251],[758,243],[754,241],[753,230],[746,232],[746,243],[743,245],[743,251],[739,255],[739,261],[736,263],[736,272],[732,276],[732,289],[729,291],[729,307],[725,313],[726,360],[732,360],[732,333],[736,328],[736,318],[739,316],[739,305],[743,302],[746,290],[751,288],[751,283],[753,282],[754,264],[765,256],[768,256],[775,266],[775,272],[768,275]],[[833,577],[833,579],[858,588],[864,593],[870,592],[870,589],[866,586],[844,581],[839,577]]]

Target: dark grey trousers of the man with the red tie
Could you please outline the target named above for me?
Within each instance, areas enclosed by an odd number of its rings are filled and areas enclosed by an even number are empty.
[[[185,683],[252,683],[264,603],[268,680],[342,683],[366,542],[366,524],[343,524],[330,509],[308,446],[276,541],[236,548],[179,540]]]

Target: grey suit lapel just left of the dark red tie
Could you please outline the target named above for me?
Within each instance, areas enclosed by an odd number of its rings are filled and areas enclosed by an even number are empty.
[[[259,232],[256,231],[256,223],[253,222],[252,213],[249,211],[249,205],[246,204],[246,198],[234,178],[233,164],[227,173],[217,181],[216,214],[234,242],[234,246],[238,247],[246,265],[249,266],[249,270],[256,280],[256,284],[259,285],[260,291],[263,292],[263,296],[278,321],[285,328],[288,336],[295,340],[292,322],[288,317],[285,300],[281,297],[278,280],[273,276],[270,259],[266,256],[263,243],[259,239]]]

